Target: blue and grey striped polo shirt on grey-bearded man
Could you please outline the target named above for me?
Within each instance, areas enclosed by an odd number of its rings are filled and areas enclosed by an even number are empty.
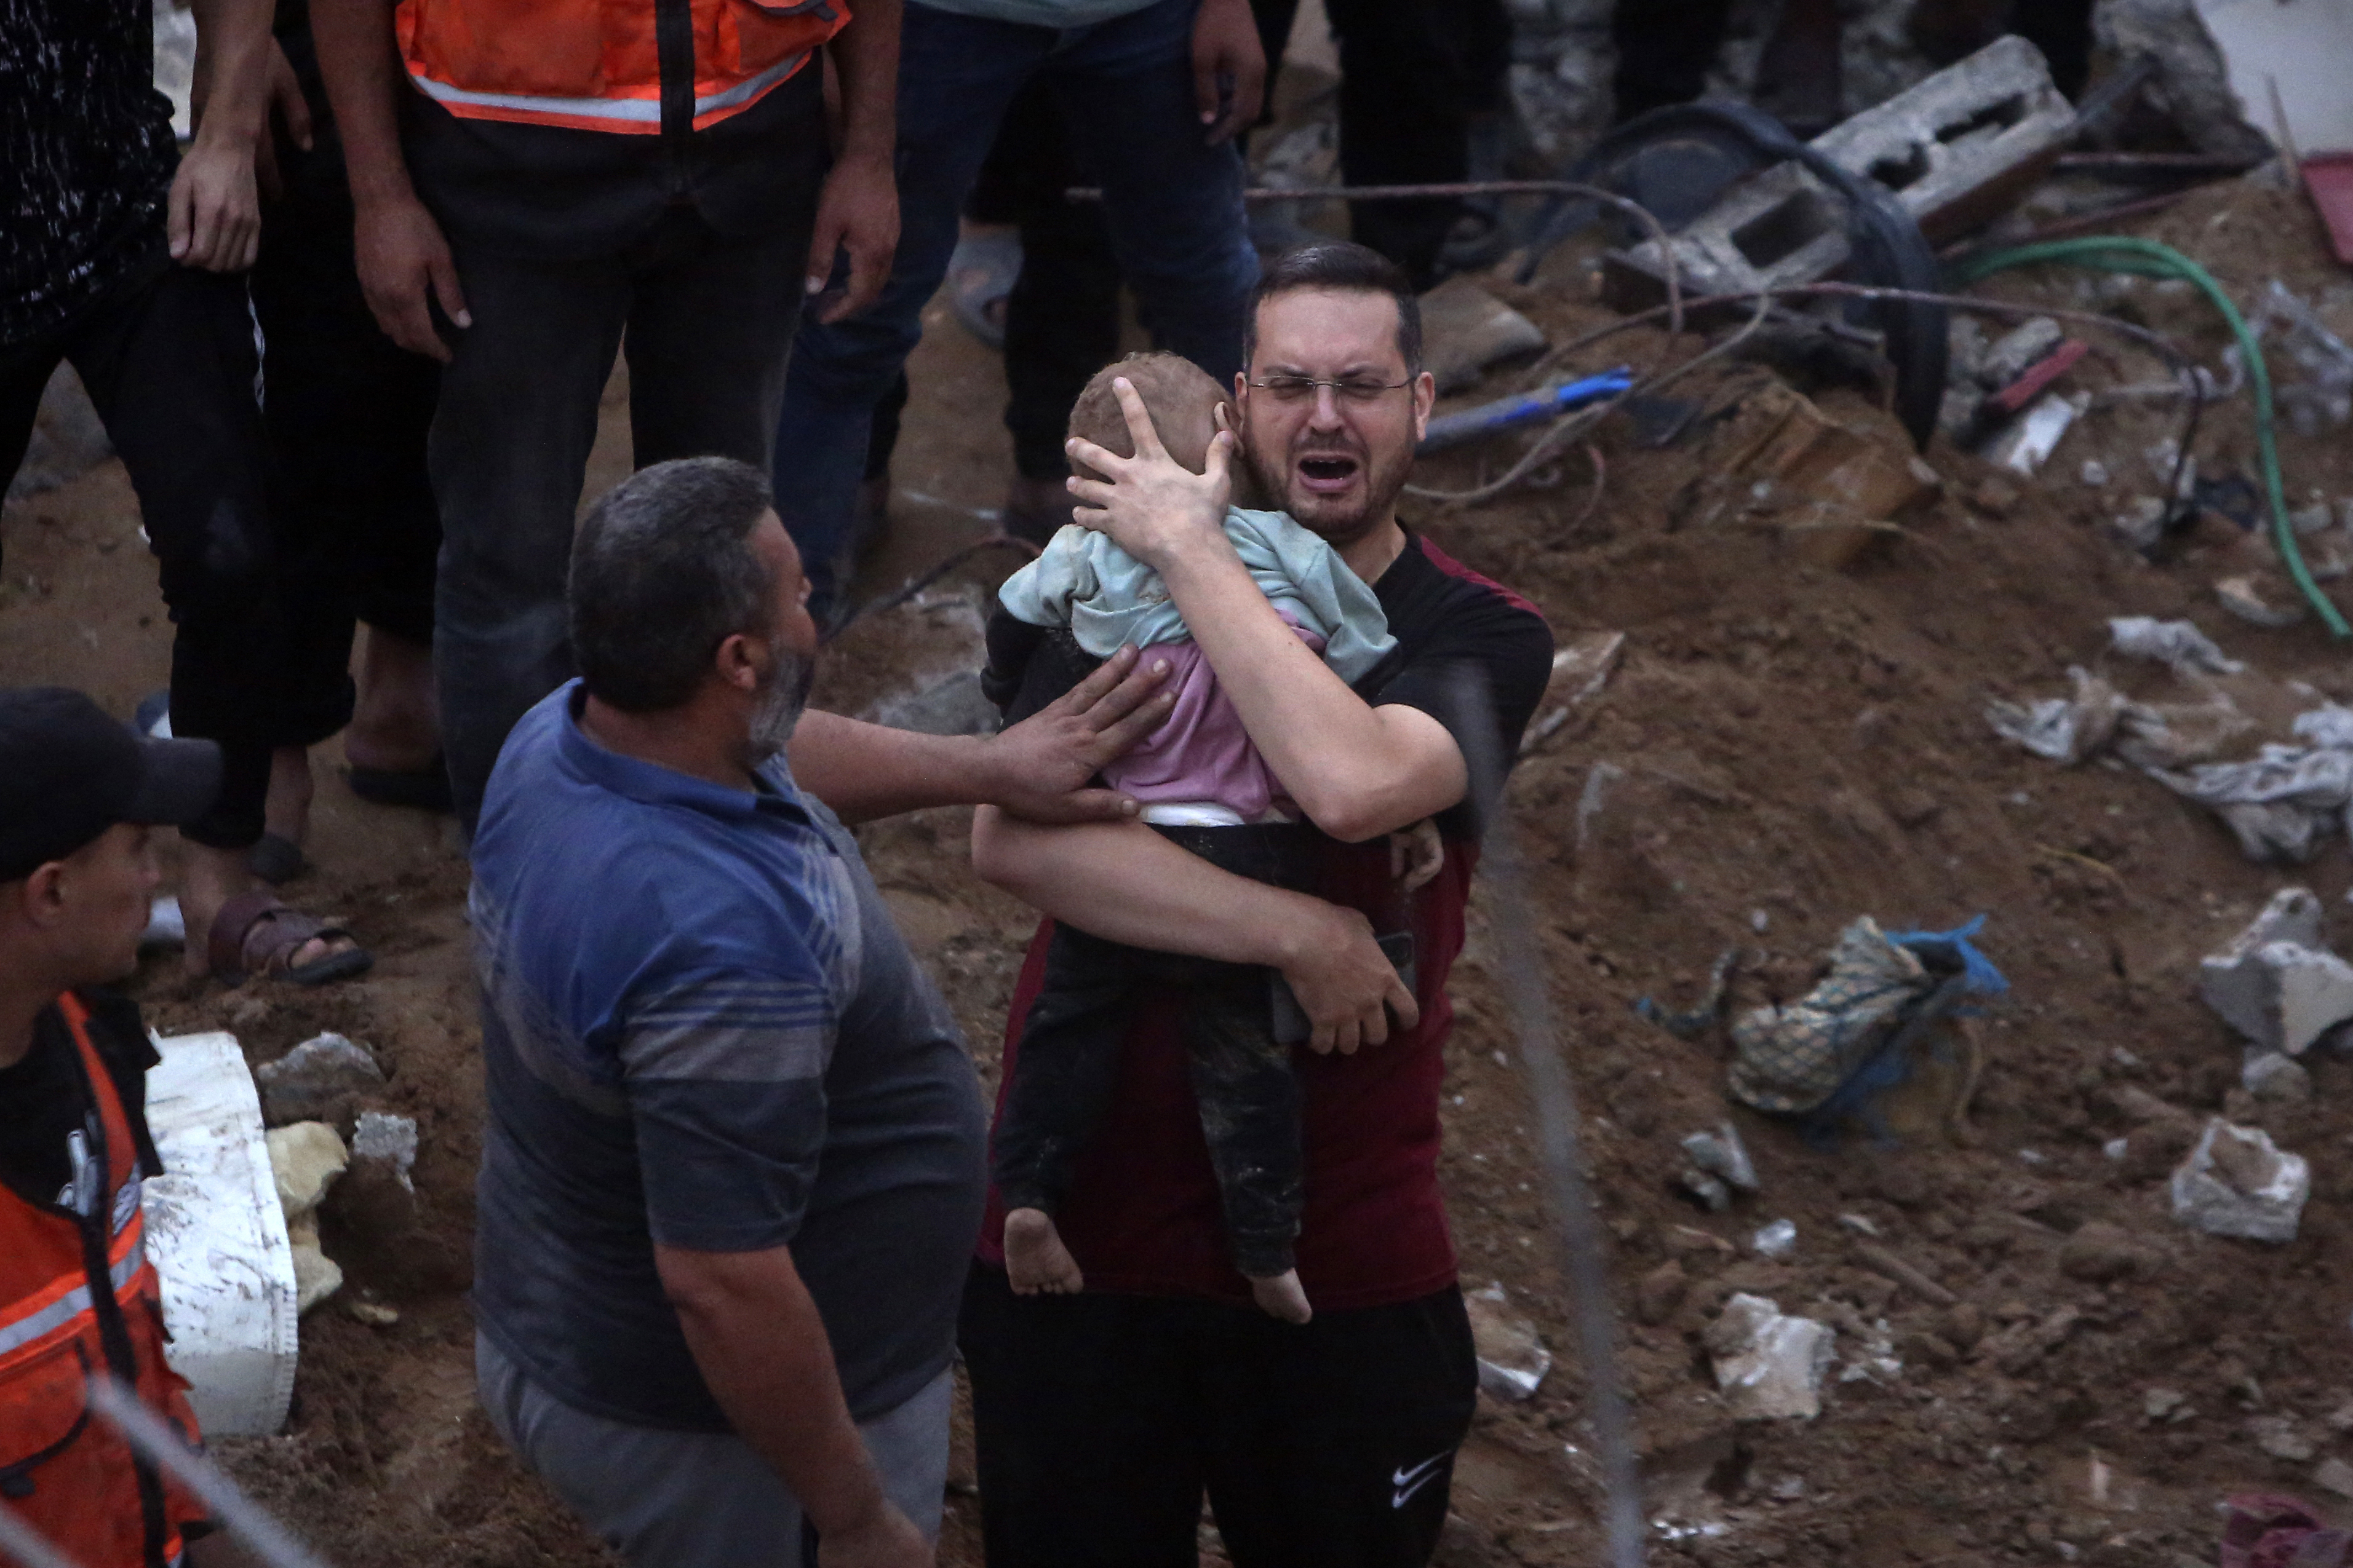
[[[576,703],[515,726],[473,846],[478,1328],[574,1410],[727,1432],[654,1244],[791,1246],[873,1420],[948,1366],[981,1201],[962,1037],[781,759],[760,795],[704,783]]]

